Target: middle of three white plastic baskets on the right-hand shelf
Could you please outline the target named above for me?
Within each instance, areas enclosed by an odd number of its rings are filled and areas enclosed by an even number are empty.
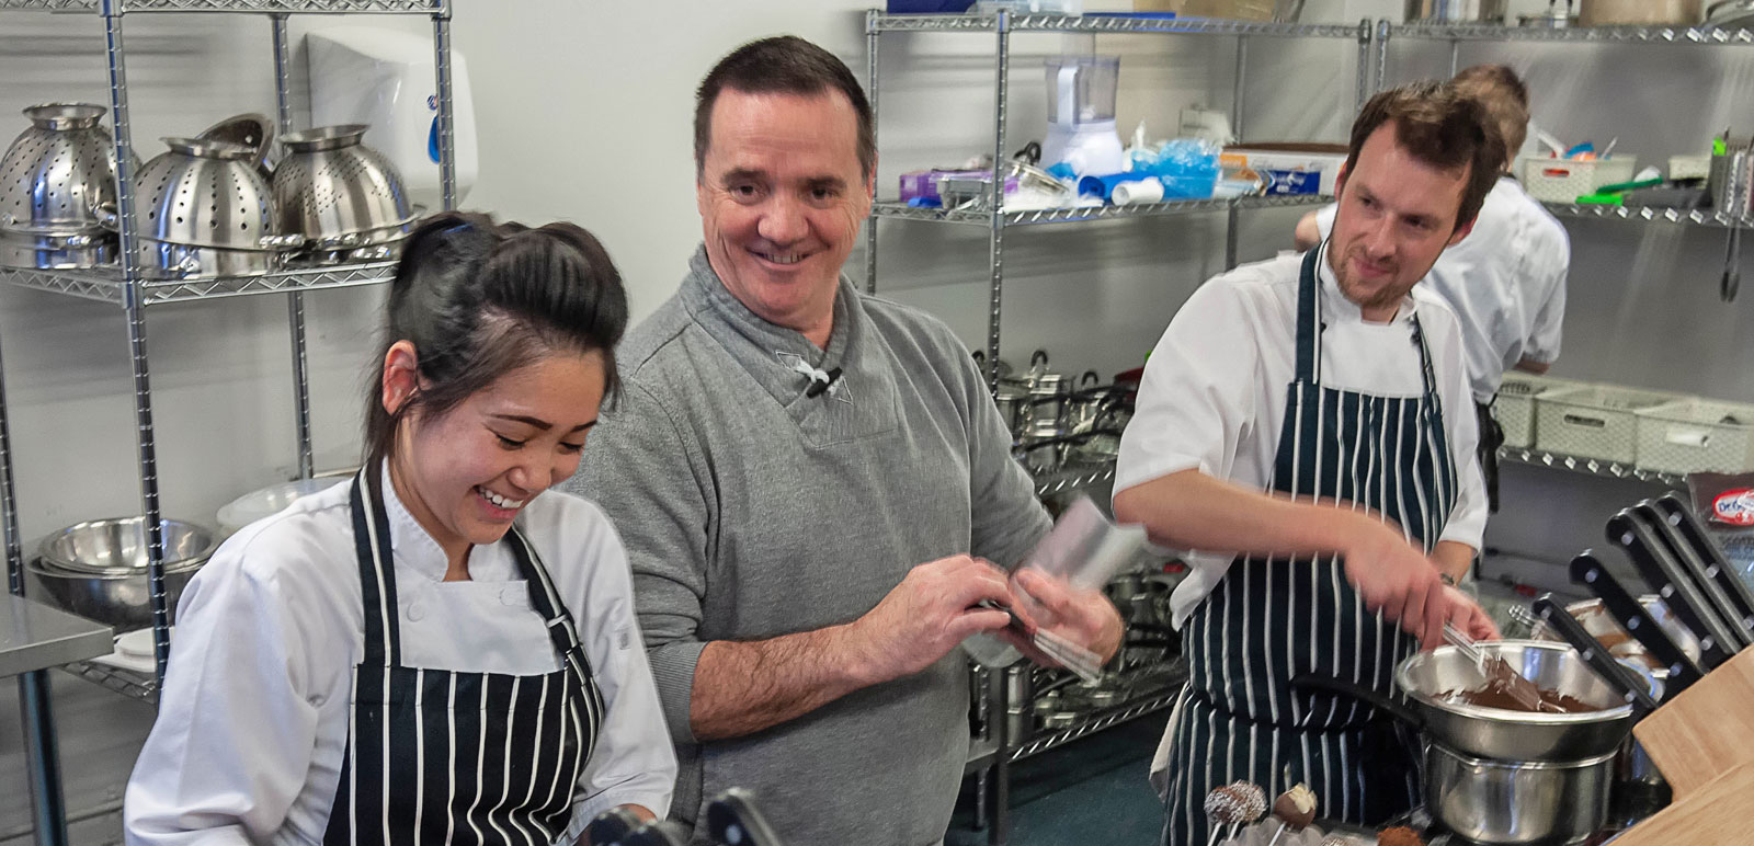
[[[1633,412],[1679,398],[1607,384],[1544,391],[1535,400],[1535,448],[1636,465],[1638,419]]]

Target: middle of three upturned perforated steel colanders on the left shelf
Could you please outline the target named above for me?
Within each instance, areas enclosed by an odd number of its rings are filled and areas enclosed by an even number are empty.
[[[140,265],[154,277],[279,270],[302,239],[279,233],[272,190],[242,144],[163,139],[135,179]]]

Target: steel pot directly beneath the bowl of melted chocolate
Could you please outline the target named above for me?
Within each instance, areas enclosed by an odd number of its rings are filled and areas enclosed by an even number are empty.
[[[1614,753],[1575,762],[1503,762],[1426,744],[1431,818],[1468,842],[1579,842],[1608,818]]]

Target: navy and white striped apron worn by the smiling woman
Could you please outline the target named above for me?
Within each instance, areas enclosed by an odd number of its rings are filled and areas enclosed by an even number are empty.
[[[561,667],[540,676],[403,667],[377,479],[367,467],[353,481],[365,660],[353,670],[347,753],[323,842],[554,842],[572,821],[574,786],[603,720],[572,616],[514,525],[507,541]]]

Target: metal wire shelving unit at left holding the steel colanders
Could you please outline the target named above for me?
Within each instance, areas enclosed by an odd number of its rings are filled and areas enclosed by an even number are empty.
[[[0,12],[91,14],[103,21],[109,70],[109,109],[116,140],[118,218],[121,244],[119,267],[96,270],[0,270],[0,281],[67,297],[119,305],[126,323],[130,367],[133,374],[133,416],[140,479],[140,504],[147,527],[147,581],[153,607],[153,676],[132,674],[98,663],[81,662],[67,670],[118,693],[156,702],[170,655],[170,609],[165,593],[165,539],[161,532],[158,456],[153,423],[151,369],[147,365],[146,311],[189,300],[284,293],[291,332],[293,400],[296,409],[296,453],[300,477],[314,472],[310,456],[310,383],[305,356],[303,291],[337,290],[386,283],[395,272],[391,262],[282,270],[260,276],[154,279],[139,267],[133,246],[139,239],[133,218],[133,132],[128,111],[128,67],[125,19],[130,14],[239,12],[268,18],[274,47],[275,105],[279,132],[293,128],[289,100],[288,18],[291,14],[398,14],[424,16],[433,25],[433,60],[437,82],[438,168],[446,209],[456,204],[456,161],[451,118],[451,2],[449,0],[0,0]],[[0,367],[4,377],[4,367]],[[0,518],[4,518],[7,583],[14,595],[25,593],[23,551],[18,525],[18,500],[12,484],[12,449],[5,419],[5,388],[0,381]],[[67,842],[61,799],[60,760],[54,746],[54,718],[46,670],[19,676],[25,711],[28,764],[32,771],[32,811],[37,842]]]

